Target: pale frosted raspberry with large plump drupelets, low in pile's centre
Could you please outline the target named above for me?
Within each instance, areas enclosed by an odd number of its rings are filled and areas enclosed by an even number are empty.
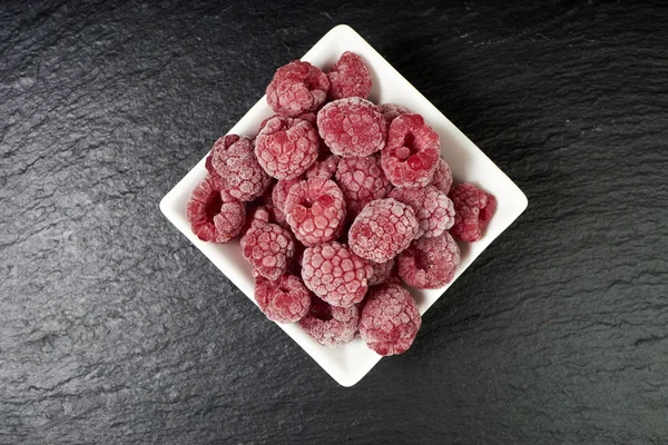
[[[338,243],[308,247],[302,260],[304,284],[332,306],[362,301],[372,273],[369,263]]]

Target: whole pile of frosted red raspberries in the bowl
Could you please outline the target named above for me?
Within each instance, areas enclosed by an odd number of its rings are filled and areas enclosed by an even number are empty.
[[[450,283],[455,239],[480,239],[497,200],[452,187],[439,135],[405,107],[367,100],[371,89],[353,52],[327,73],[299,60],[278,68],[266,89],[275,115],[255,138],[214,144],[187,218],[205,241],[240,236],[269,319],[393,355],[422,323],[404,285]]]

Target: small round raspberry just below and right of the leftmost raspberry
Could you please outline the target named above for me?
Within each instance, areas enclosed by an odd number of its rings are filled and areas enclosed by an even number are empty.
[[[242,251],[253,265],[254,276],[276,280],[287,270],[295,241],[289,231],[276,224],[256,225],[242,237]]]

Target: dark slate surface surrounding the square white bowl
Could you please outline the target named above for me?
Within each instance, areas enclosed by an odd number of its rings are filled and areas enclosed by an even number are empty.
[[[153,3],[0,6],[1,443],[668,441],[660,2]],[[158,211],[342,22],[530,201],[353,388]]]

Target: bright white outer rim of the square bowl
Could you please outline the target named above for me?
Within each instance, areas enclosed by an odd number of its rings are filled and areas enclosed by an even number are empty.
[[[512,210],[505,215],[505,218],[492,218],[490,225],[488,226],[483,238],[475,243],[475,253],[471,253],[466,256],[466,260],[462,263],[462,265],[458,268],[454,280],[469,267],[469,265],[480,255],[484,248],[487,248],[503,230],[505,230],[527,208],[528,200],[524,194],[520,190],[514,182],[503,171],[501,171],[483,152],[480,150],[462,131],[460,131],[450,120],[443,116],[420,91],[418,91],[401,73],[399,73],[377,51],[373,49],[357,32],[355,32],[351,27],[346,24],[340,24],[330,30],[316,44],[314,44],[306,55],[302,58],[302,60],[311,61],[315,55],[322,51],[322,47],[330,43],[330,41],[340,41],[344,38],[351,39],[356,42],[358,46],[366,47],[367,51],[373,55],[375,59],[373,61],[373,67],[377,70],[379,65],[381,65],[383,70],[386,72],[391,72],[393,76],[401,79],[406,83],[406,87],[412,91],[412,93],[423,103],[421,107],[429,107],[431,113],[438,115],[439,118],[442,118],[448,123],[448,131],[451,132],[451,136],[454,136],[458,139],[459,144],[468,145],[470,148],[474,148],[479,151],[480,155],[484,158],[484,161],[489,164],[489,167],[493,170],[497,170],[497,175],[500,174],[503,179],[507,180],[507,187],[511,186],[513,189],[512,192],[505,194],[505,197],[512,196],[511,202],[502,202],[503,197],[499,197],[499,205],[510,205],[512,204]],[[257,121],[256,115],[264,113],[264,117],[268,117],[271,115],[269,111],[262,111],[266,108],[265,103],[266,97],[263,96],[244,115],[242,119],[228,131],[228,132],[247,132],[239,131],[242,128],[248,127],[248,120]],[[429,121],[429,119],[428,119]],[[208,155],[208,154],[207,154]],[[177,196],[180,195],[181,190],[193,190],[196,185],[204,178],[206,175],[206,170],[204,168],[206,156],[176,185],[174,188],[160,200],[160,210],[165,215],[165,217],[176,226],[178,230],[180,230],[189,240],[193,243],[220,271],[235,285],[237,286],[248,298],[254,303],[253,298],[253,286],[248,284],[244,276],[249,271],[250,266],[245,261],[243,264],[225,264],[225,268],[223,265],[218,264],[219,254],[216,249],[225,249],[229,250],[228,254],[240,256],[240,247],[238,243],[229,244],[225,246],[217,246],[209,243],[204,243],[193,234],[190,230],[189,224],[185,218],[183,211],[176,209],[173,204],[177,200]],[[479,159],[480,160],[480,159]],[[456,176],[456,171],[454,171]],[[452,284],[451,283],[451,284]],[[444,286],[440,289],[429,290],[429,291],[414,291],[413,294],[418,294],[416,297],[422,299],[420,304],[421,314],[424,314],[439,297],[450,287],[450,285]],[[340,385],[342,386],[352,386],[356,384],[360,379],[362,379],[382,358],[382,356],[370,352],[371,354],[367,356],[367,359],[357,367],[354,372],[345,373],[341,367],[333,366],[330,357],[326,357],[323,354],[323,347],[318,345],[315,340],[307,337],[304,332],[298,327],[298,325],[283,325],[277,324],[295,343],[297,343],[327,374],[332,376]]]

